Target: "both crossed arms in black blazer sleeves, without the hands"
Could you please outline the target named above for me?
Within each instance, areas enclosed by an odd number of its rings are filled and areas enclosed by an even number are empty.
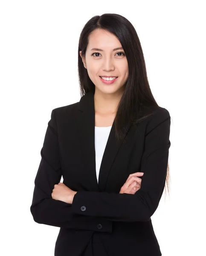
[[[56,227],[112,231],[113,221],[148,221],[156,211],[165,185],[170,148],[170,115],[163,108],[148,123],[141,161],[141,188],[134,194],[78,191],[72,204],[52,199],[61,180],[58,134],[52,110],[46,130],[41,162],[35,177],[30,207],[36,222]]]

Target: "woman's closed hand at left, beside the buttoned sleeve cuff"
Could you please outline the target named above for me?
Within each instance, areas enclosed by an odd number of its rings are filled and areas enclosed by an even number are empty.
[[[58,183],[54,185],[52,190],[52,198],[55,200],[63,201],[67,204],[72,204],[74,195],[77,191],[73,191],[68,188],[64,183]]]

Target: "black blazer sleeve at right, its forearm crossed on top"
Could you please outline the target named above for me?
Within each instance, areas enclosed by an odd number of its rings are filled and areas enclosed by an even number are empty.
[[[111,221],[148,221],[164,190],[170,148],[170,114],[162,108],[148,121],[141,159],[141,188],[134,194],[78,191],[74,213],[101,216]]]

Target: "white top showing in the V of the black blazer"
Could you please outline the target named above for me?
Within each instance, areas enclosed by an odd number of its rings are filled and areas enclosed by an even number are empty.
[[[95,126],[95,157],[96,157],[96,177],[99,183],[99,170],[102,163],[104,149],[107,145],[107,140],[110,135],[111,126],[98,127]]]

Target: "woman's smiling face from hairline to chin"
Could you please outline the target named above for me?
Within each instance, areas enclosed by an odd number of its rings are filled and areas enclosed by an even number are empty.
[[[89,37],[84,67],[95,84],[95,93],[122,94],[128,79],[128,61],[119,39],[103,29],[94,30]],[[98,49],[93,49],[98,48]],[[81,55],[81,51],[79,52]],[[100,78],[118,77],[113,81]]]

